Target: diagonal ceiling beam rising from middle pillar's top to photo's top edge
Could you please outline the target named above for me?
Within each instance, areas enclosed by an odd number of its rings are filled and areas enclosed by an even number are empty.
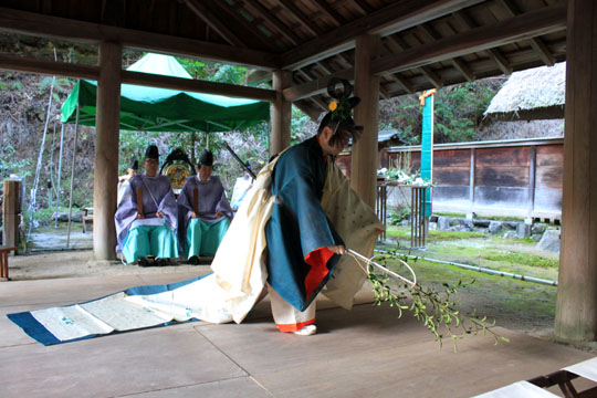
[[[284,4],[290,2],[290,0],[281,1]],[[296,70],[353,49],[355,38],[360,34],[371,33],[386,36],[482,1],[484,0],[397,1],[328,33],[318,33],[317,39],[282,54],[282,65],[284,69]]]

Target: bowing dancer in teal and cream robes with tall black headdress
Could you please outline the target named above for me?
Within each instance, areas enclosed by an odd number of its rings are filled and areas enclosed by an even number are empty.
[[[344,93],[336,93],[338,82]],[[371,255],[384,224],[334,163],[349,138],[358,138],[362,128],[355,126],[352,108],[359,98],[349,97],[347,81],[333,80],[328,92],[337,101],[317,135],[260,171],[211,263],[212,280],[226,292],[220,307],[237,323],[266,287],[277,328],[312,335],[317,331],[317,294],[349,310],[367,277],[354,259],[342,254],[348,247]]]

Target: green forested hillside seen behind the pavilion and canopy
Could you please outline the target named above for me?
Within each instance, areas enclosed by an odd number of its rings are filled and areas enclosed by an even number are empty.
[[[140,56],[143,56],[142,53],[127,54],[124,57],[123,67],[129,66]],[[247,76],[251,72],[245,67],[227,64],[186,59],[178,59],[178,61],[191,76],[199,80],[247,85]],[[434,143],[536,136],[536,132],[522,128],[522,125],[502,124],[500,126],[483,118],[483,112],[506,78],[506,76],[492,77],[439,90],[436,96]],[[56,200],[60,199],[61,209],[69,206],[71,175],[74,179],[72,192],[74,206],[91,207],[93,205],[95,129],[80,126],[78,139],[74,148],[74,125],[60,124],[61,106],[75,83],[76,81],[71,78],[0,72],[0,179],[3,180],[11,175],[24,178],[24,209],[28,209],[31,200],[30,190],[33,187],[41,157],[39,186],[33,209],[38,221],[48,222],[51,219]],[[379,108],[379,130],[397,129],[406,145],[420,143],[422,117],[418,94],[381,101]],[[293,106],[292,144],[313,136],[316,134],[316,122]],[[41,153],[44,132],[45,144]],[[242,176],[242,169],[224,149],[223,143],[227,142],[241,159],[249,160],[253,169],[259,170],[270,156],[268,153],[269,132],[268,123],[241,132],[209,135],[203,132],[123,130],[118,148],[118,170],[124,174],[133,159],[140,161],[145,148],[150,143],[158,145],[161,161],[171,150],[182,148],[195,164],[200,151],[209,147],[216,155],[214,174],[220,176],[230,193],[235,178]],[[64,134],[62,145],[61,133]],[[61,147],[62,164],[60,164]],[[74,164],[73,156],[76,156]],[[73,168],[74,172],[72,172]],[[60,182],[59,169],[61,169]],[[25,213],[27,220],[30,219],[29,216]]]

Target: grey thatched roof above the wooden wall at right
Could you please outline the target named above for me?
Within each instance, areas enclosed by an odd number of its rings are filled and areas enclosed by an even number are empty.
[[[485,116],[501,121],[564,118],[566,63],[515,72],[491,101]]]

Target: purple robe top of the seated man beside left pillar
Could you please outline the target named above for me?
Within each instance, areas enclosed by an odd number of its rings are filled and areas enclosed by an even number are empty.
[[[176,233],[178,227],[176,198],[167,176],[158,175],[147,177],[145,174],[136,175],[130,179],[129,186],[123,195],[121,205],[114,216],[116,221],[116,237],[118,244],[116,252],[122,252],[123,243],[133,223],[137,220],[137,188],[143,190],[143,212],[145,219],[140,223],[156,224],[160,220],[156,212],[164,214],[167,226]]]

